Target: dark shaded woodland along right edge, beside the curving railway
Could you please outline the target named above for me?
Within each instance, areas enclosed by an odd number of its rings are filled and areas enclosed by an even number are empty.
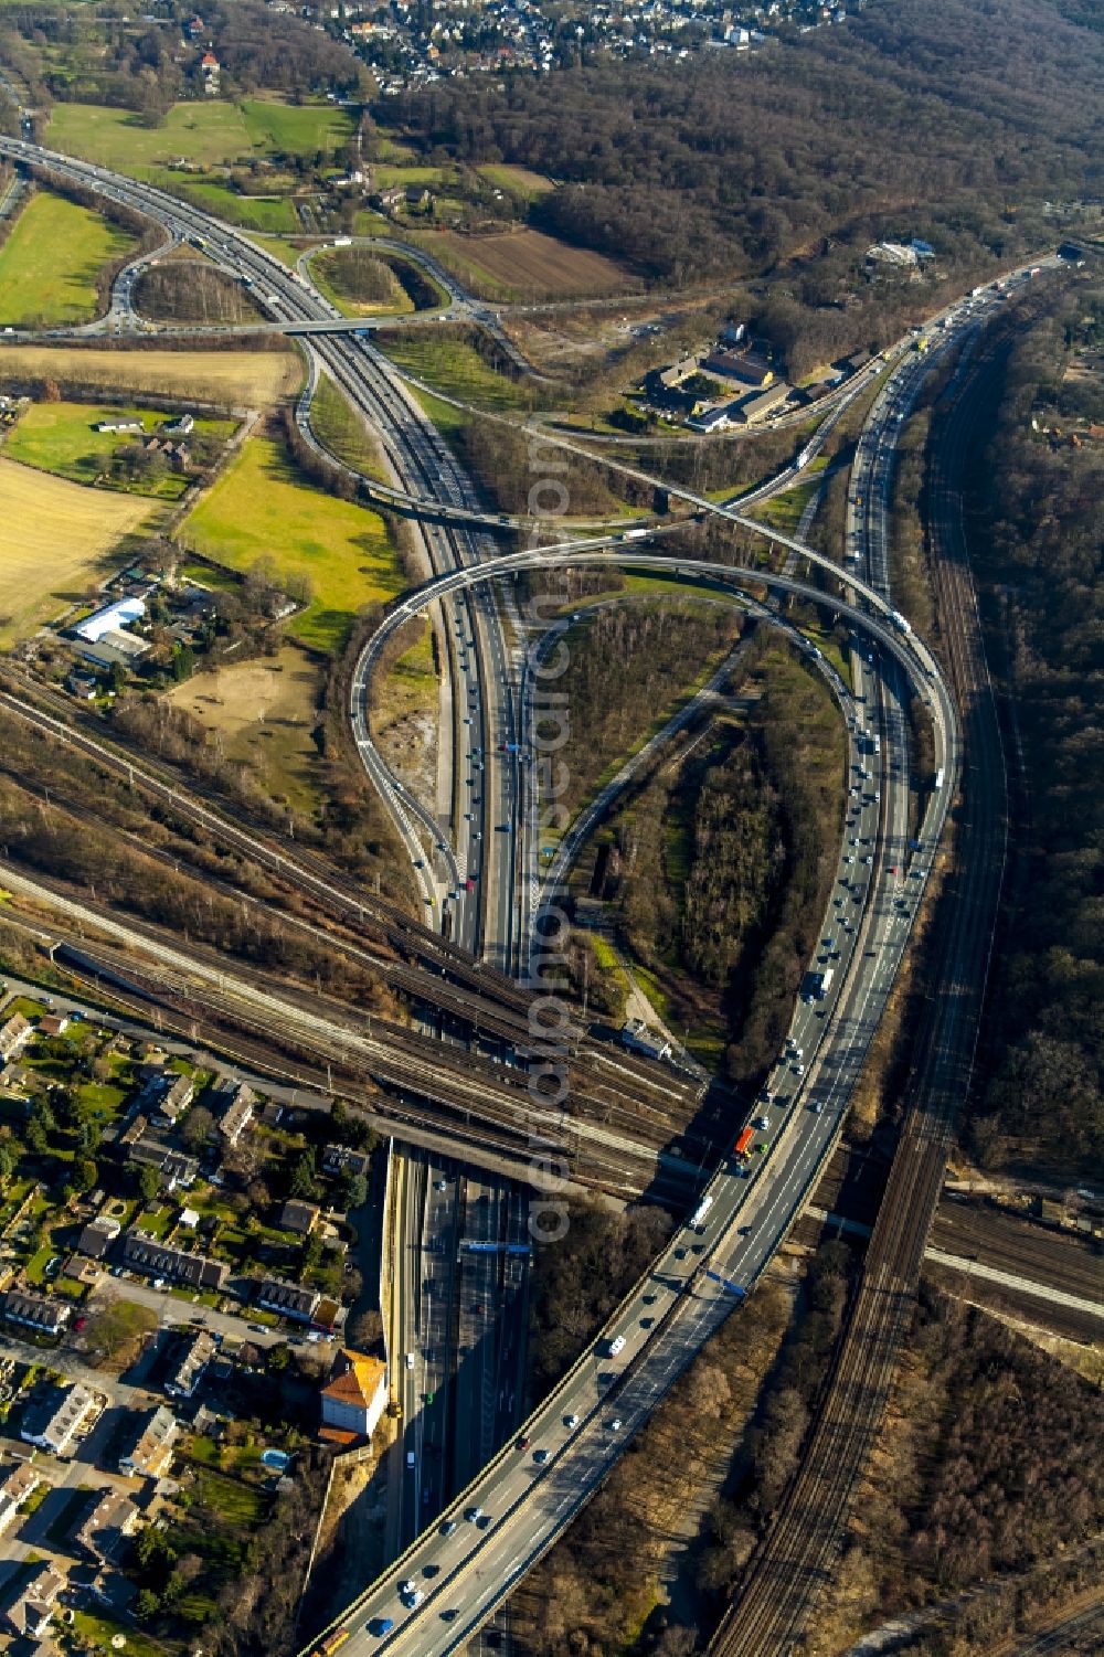
[[[986,1167],[1043,1158],[1059,1175],[1104,1158],[1104,444],[1087,432],[1104,401],[1102,341],[1104,285],[1061,295],[1005,361],[973,472],[971,552],[1028,799],[986,1012],[995,1064],[970,1143]],[[1074,353],[1082,366],[1069,374]]]

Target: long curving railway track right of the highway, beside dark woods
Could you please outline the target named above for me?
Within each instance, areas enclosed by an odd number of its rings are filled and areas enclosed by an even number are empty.
[[[961,520],[961,457],[983,355],[935,429],[928,499],[940,640],[961,709],[965,769],[956,878],[938,936],[940,994],[920,1032],[920,1062],[862,1279],[802,1466],[753,1558],[711,1657],[777,1657],[801,1639],[832,1577],[850,1498],[882,1422],[907,1337],[958,1107],[970,1089],[1005,867],[1005,764]]]

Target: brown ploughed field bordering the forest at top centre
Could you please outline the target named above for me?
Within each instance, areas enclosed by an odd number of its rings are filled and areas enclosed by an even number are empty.
[[[628,293],[640,283],[603,254],[569,247],[540,230],[426,237],[443,265],[487,298],[535,302]]]

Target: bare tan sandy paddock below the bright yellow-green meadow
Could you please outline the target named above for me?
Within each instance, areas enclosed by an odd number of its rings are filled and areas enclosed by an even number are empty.
[[[202,568],[192,573],[206,578]],[[199,673],[169,691],[169,701],[219,732],[225,757],[249,766],[272,799],[312,814],[320,766],[312,731],[322,701],[322,671],[305,651],[285,645],[272,659]]]

